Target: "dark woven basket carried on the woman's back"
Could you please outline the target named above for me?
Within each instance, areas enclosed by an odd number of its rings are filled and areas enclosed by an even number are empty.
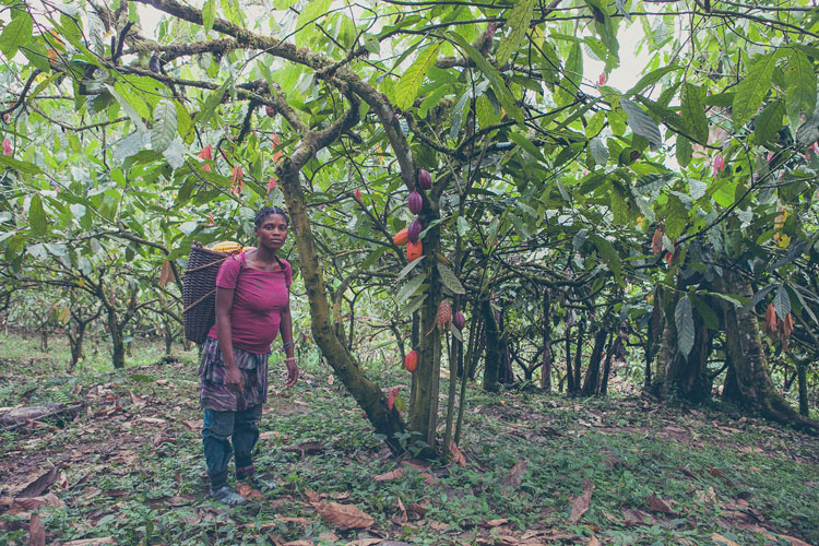
[[[216,322],[216,274],[227,254],[194,242],[182,277],[185,337],[202,344]]]

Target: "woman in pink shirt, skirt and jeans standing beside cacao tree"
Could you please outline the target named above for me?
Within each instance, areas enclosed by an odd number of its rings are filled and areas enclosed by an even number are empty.
[[[216,324],[202,345],[199,366],[202,443],[211,497],[229,506],[245,502],[227,485],[232,454],[236,478],[258,485],[252,451],[268,400],[268,356],[278,332],[286,355],[285,385],[293,387],[298,379],[288,292],[293,271],[276,256],[288,224],[282,209],[263,207],[256,215],[257,248],[225,260],[216,276]]]

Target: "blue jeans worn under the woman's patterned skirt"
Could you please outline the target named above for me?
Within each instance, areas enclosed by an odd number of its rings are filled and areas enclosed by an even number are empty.
[[[252,451],[259,440],[257,424],[261,416],[261,404],[240,412],[217,412],[205,408],[202,444],[212,489],[218,489],[227,483],[227,463],[230,461],[230,455],[236,455],[237,468],[250,468],[245,472],[252,474]]]

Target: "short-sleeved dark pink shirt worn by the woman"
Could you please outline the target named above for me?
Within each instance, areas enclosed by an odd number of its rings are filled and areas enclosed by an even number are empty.
[[[216,275],[216,286],[234,289],[230,329],[234,347],[258,355],[270,353],[287,307],[293,270],[282,260],[284,270],[259,271],[245,264],[245,254],[225,260]],[[216,325],[209,337],[216,337]]]

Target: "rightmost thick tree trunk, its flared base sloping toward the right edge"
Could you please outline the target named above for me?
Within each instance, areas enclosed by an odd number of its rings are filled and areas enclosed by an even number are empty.
[[[750,299],[750,285],[733,280],[732,292]],[[751,309],[722,302],[725,324],[725,351],[731,357],[740,402],[762,416],[819,435],[819,423],[796,413],[776,392],[768,371],[768,359],[759,335],[759,323]]]

